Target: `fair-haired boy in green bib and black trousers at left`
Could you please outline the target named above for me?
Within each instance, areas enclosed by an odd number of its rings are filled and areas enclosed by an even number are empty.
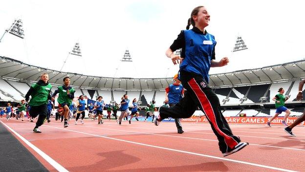
[[[44,124],[44,120],[48,114],[47,102],[49,99],[51,99],[52,88],[52,85],[48,83],[48,80],[49,75],[46,73],[42,74],[40,76],[40,80],[36,84],[33,84],[25,95],[25,101],[28,101],[29,97],[31,96],[31,100],[29,102],[29,106],[31,107],[29,110],[29,115],[32,118],[36,118],[39,115],[36,126],[33,129],[33,132],[35,133],[41,133],[38,127]]]

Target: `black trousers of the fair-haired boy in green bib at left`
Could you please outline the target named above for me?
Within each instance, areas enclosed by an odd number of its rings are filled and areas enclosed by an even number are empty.
[[[48,114],[47,105],[43,104],[39,106],[31,106],[29,114],[32,118],[36,118],[39,115],[35,126],[35,128],[38,128],[44,123],[44,119],[47,117]]]

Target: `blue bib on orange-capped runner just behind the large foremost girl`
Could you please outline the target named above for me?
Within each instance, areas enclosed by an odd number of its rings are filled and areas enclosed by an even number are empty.
[[[166,92],[168,93],[169,104],[174,103],[177,104],[182,98],[183,86],[171,84],[168,88],[166,88]]]

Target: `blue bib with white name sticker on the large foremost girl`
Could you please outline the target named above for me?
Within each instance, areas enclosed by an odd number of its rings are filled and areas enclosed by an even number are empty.
[[[202,75],[209,83],[209,71],[213,49],[216,46],[215,37],[209,33],[198,34],[193,30],[184,30],[185,57],[180,70]]]

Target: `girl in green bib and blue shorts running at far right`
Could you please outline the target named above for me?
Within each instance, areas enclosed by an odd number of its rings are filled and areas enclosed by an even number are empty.
[[[275,95],[274,98],[272,98],[273,101],[275,101],[275,107],[276,107],[276,112],[275,112],[275,115],[270,118],[270,120],[267,122],[267,125],[268,126],[271,126],[270,123],[272,123],[272,121],[278,117],[282,112],[286,112],[285,116],[284,116],[284,119],[282,121],[282,123],[284,125],[288,125],[286,123],[286,119],[287,117],[290,115],[290,111],[284,106],[285,105],[285,101],[287,101],[287,99],[289,98],[288,96],[284,96],[284,92],[285,90],[281,87],[279,88],[279,94]]]

